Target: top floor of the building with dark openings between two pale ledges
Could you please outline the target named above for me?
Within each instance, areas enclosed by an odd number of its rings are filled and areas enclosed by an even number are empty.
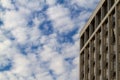
[[[95,34],[97,28],[101,26],[101,24],[107,23],[105,21],[108,15],[113,14],[115,11],[113,10],[116,4],[120,0],[101,0],[91,17],[89,18],[86,25],[80,32],[80,44],[81,48],[85,45],[85,43],[90,39],[92,35]]]

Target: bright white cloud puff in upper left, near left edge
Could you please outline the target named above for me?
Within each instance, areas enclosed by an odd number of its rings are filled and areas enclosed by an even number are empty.
[[[4,27],[3,29],[11,30],[15,27],[23,26],[26,23],[26,20],[23,18],[23,15],[17,11],[8,11],[3,16]]]

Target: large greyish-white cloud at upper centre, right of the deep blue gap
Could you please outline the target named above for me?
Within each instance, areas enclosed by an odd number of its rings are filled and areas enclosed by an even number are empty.
[[[74,25],[69,17],[69,10],[61,5],[52,6],[47,10],[49,19],[53,21],[53,26],[60,33],[68,32],[73,29]],[[68,28],[69,27],[69,28]]]

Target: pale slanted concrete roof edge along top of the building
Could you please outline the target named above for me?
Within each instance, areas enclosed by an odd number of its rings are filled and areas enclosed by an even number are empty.
[[[100,10],[102,4],[105,2],[105,0],[101,0],[99,2],[99,4],[97,5],[97,7],[95,8],[95,10],[93,11],[92,15],[89,17],[87,23],[84,25],[84,27],[81,29],[80,31],[80,37],[83,35],[83,33],[85,32],[85,30],[88,28],[89,24],[91,23],[91,21],[93,20],[93,18],[95,17],[95,15],[97,14],[97,12]]]

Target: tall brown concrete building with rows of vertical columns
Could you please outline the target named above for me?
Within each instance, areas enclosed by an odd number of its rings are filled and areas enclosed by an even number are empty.
[[[101,0],[81,30],[80,80],[120,80],[120,0]]]

